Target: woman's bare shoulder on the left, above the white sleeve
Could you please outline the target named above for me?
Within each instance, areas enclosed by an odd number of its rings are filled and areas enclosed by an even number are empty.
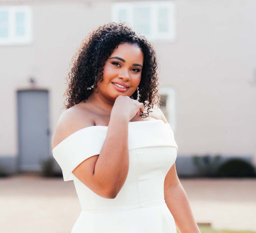
[[[89,109],[73,106],[61,114],[52,135],[52,148],[79,129],[95,125]]]

